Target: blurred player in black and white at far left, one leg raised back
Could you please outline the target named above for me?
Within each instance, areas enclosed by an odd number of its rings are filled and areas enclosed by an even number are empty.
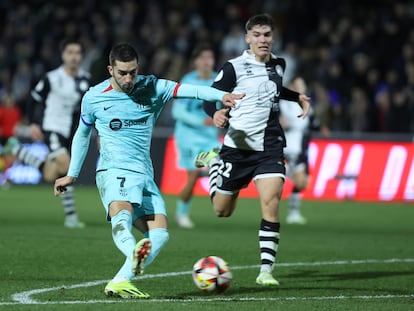
[[[29,119],[34,141],[44,140],[49,148],[45,160],[31,154],[16,138],[8,140],[3,154],[11,153],[23,164],[38,168],[47,182],[65,176],[70,162],[70,144],[79,122],[80,100],[89,89],[90,74],[80,68],[82,46],[76,40],[61,44],[62,65],[46,73],[32,90],[33,106]],[[75,210],[73,187],[61,195],[64,225],[82,228]]]

